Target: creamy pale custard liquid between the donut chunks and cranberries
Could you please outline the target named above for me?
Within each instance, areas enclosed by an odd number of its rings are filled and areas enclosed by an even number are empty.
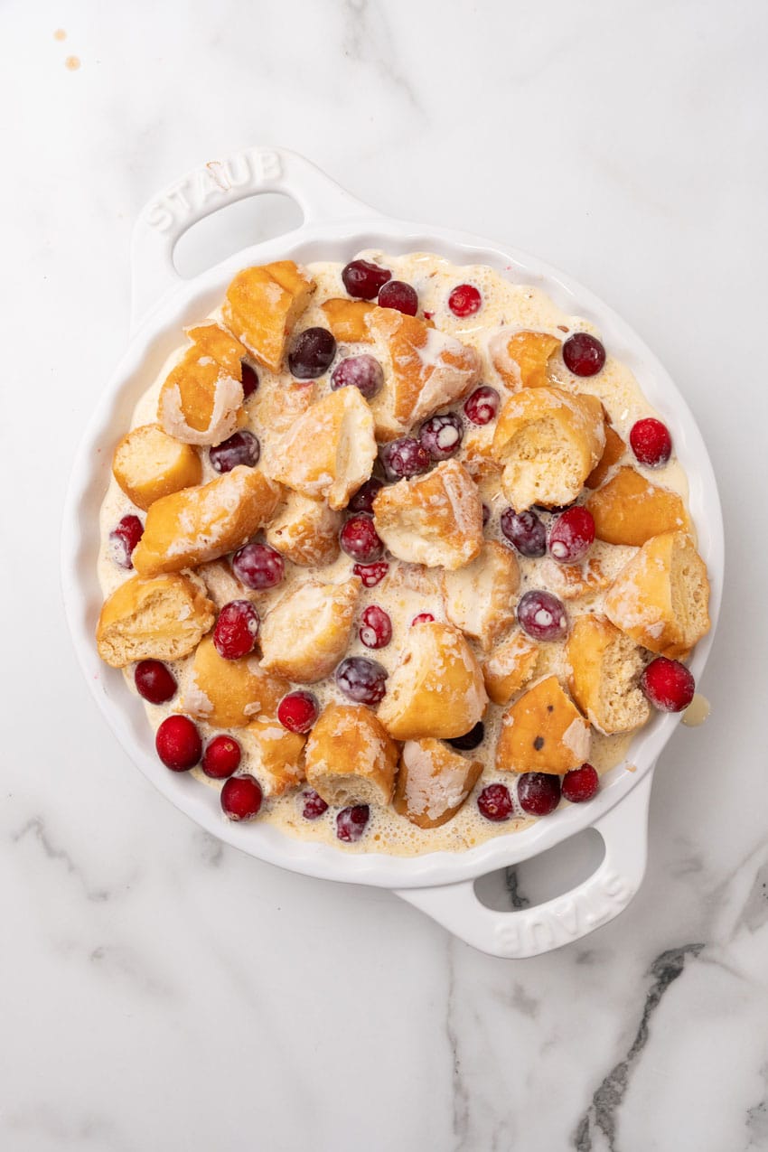
[[[448,333],[457,338],[464,346],[476,349],[481,363],[479,384],[488,385],[496,391],[499,394],[499,411],[501,411],[504,403],[519,388],[510,385],[509,376],[507,379],[503,378],[499,370],[499,354],[496,354],[496,362],[494,363],[491,353],[493,338],[500,329],[524,329],[556,338],[558,341],[557,348],[549,357],[546,366],[547,382],[568,393],[587,394],[598,397],[604,406],[604,411],[614,431],[625,444],[623,456],[614,464],[613,471],[609,475],[613,475],[622,464],[629,464],[653,484],[678,493],[683,501],[686,501],[686,479],[674,456],[663,469],[644,468],[632,456],[629,447],[630,429],[638,419],[655,416],[655,412],[641,394],[630,370],[611,357],[610,348],[607,349],[604,366],[592,376],[576,376],[567,367],[562,355],[562,344],[570,335],[576,332],[600,335],[600,333],[594,332],[588,323],[578,317],[561,312],[538,288],[530,285],[512,283],[497,272],[482,265],[457,266],[438,256],[423,252],[408,256],[391,256],[381,251],[366,251],[362,252],[359,258],[390,270],[394,280],[404,281],[406,285],[412,286],[418,296],[418,317],[432,321],[440,332]],[[306,271],[317,282],[317,291],[309,306],[298,317],[294,335],[310,327],[327,328],[328,317],[321,309],[321,304],[329,298],[349,298],[342,282],[341,264],[319,262],[309,265]],[[480,294],[480,306],[471,314],[457,316],[449,306],[451,291],[461,285],[471,286],[478,289]],[[221,312],[214,312],[211,319],[222,323]],[[200,320],[204,320],[204,318],[200,317]],[[180,333],[178,351],[166,363],[157,380],[147,381],[146,392],[134,411],[131,427],[153,424],[158,420],[158,399],[161,386],[168,372],[180,361],[187,347],[188,344],[182,343],[182,334]],[[330,393],[330,376],[340,359],[362,354],[375,357],[377,353],[378,347],[375,341],[373,343],[370,341],[350,342],[340,339],[330,367],[313,381],[313,403],[317,403]],[[258,388],[244,401],[244,411],[248,417],[245,426],[260,442],[261,456],[258,467],[265,469],[268,473],[275,454],[280,454],[281,452],[282,437],[291,429],[295,419],[301,415],[301,407],[295,412],[291,412],[290,407],[286,407],[283,395],[295,392],[297,382],[288,371],[287,357],[283,361],[283,371],[277,373],[257,365],[256,362],[252,363],[258,372],[259,384]],[[516,366],[512,365],[511,376],[515,376],[515,370]],[[473,385],[473,388],[477,386],[477,384]],[[473,423],[465,415],[465,402],[466,395],[439,409],[441,412],[451,411],[461,417],[463,439],[461,447],[453,458],[459,463],[466,463],[478,484],[482,502],[487,509],[487,522],[484,529],[485,538],[487,540],[500,541],[504,547],[512,548],[512,545],[504,537],[500,526],[502,513],[510,503],[502,487],[501,470],[477,467],[478,460],[481,460],[484,455],[487,457],[491,453],[491,445],[497,422],[494,418],[485,425]],[[417,437],[418,425],[409,430],[409,434]],[[200,446],[195,450],[200,456],[203,465],[201,483],[205,484],[214,479],[219,473],[211,467],[207,447]],[[379,464],[375,465],[373,475],[383,478],[383,472]],[[591,491],[584,488],[577,502],[584,503],[590,495]],[[556,511],[553,513],[552,510],[540,508],[534,508],[533,510],[540,516],[546,526],[553,523],[556,515]],[[145,513],[131,503],[113,478],[100,515],[101,551],[98,574],[105,598],[113,593],[123,581],[135,575],[130,569],[126,569],[115,562],[114,547],[109,539],[115,524],[129,513],[137,514],[142,522],[144,522]],[[263,540],[264,533],[259,533],[257,539]],[[537,559],[526,559],[526,556],[514,548],[512,552],[519,564],[518,597],[522,597],[529,589],[549,589],[562,596],[562,582],[557,579],[557,563],[550,554]],[[636,546],[609,544],[600,539],[595,540],[590,550],[588,558],[581,563],[581,570],[585,570],[585,566],[596,562],[607,578],[594,591],[584,589],[583,594],[576,598],[563,598],[570,628],[573,627],[575,622],[583,614],[600,614],[602,612],[606,588],[609,586],[613,578],[637,552],[638,548]],[[208,564],[203,578],[199,573],[193,571],[189,574],[199,583],[200,588],[219,608],[223,602],[243,594],[242,588],[238,591],[237,582],[231,576],[228,564],[229,559],[230,556],[222,556],[219,563]],[[359,638],[358,624],[356,623],[345,654],[347,657],[360,655],[374,659],[391,675],[398,662],[398,654],[409,634],[413,617],[420,613],[429,613],[435,620],[444,621],[447,620],[447,614],[440,588],[440,574],[438,571],[421,566],[401,563],[389,553],[385,553],[382,559],[389,562],[388,575],[375,586],[362,589],[356,607],[356,620],[359,621],[359,617],[368,605],[378,605],[390,617],[391,641],[386,646],[375,650],[366,647]],[[287,593],[290,593],[309,577],[319,575],[319,578],[324,583],[340,584],[351,577],[353,564],[355,560],[344,552],[341,552],[333,563],[325,566],[319,574],[311,568],[299,567],[286,561],[284,579],[276,588],[249,593],[249,597],[256,605],[261,622],[264,622],[272,608]],[[480,661],[487,659],[489,653],[484,651],[477,639],[470,638],[470,644]],[[256,659],[259,657],[258,645],[253,657]],[[169,714],[183,711],[184,691],[189,681],[191,661],[192,654],[183,660],[166,661],[176,677],[180,689],[177,695],[167,704],[152,705],[145,703],[147,719],[153,729],[157,729],[161,721]],[[123,670],[129,691],[136,692],[134,669],[135,665],[129,665]],[[561,683],[567,687],[569,670],[564,643],[541,642],[539,644],[539,655],[534,675],[530,683],[535,683],[541,677],[554,672]],[[334,700],[343,704],[350,703],[336,685],[333,675],[318,683],[294,684],[292,688],[312,692],[317,697],[320,710]],[[303,817],[304,795],[307,788],[305,783],[299,783],[295,789],[289,789],[280,796],[269,794],[269,781],[260,775],[258,758],[253,753],[244,728],[221,729],[213,728],[205,721],[196,720],[196,722],[204,743],[225,730],[241,744],[242,761],[238,773],[250,773],[256,776],[261,783],[265,794],[264,803],[257,819],[268,820],[292,836],[304,840],[325,841],[344,851],[417,855],[435,850],[457,851],[466,849],[492,836],[505,835],[532,823],[532,818],[522,810],[517,802],[517,775],[514,772],[497,771],[494,763],[501,718],[505,711],[507,705],[500,706],[489,703],[484,715],[484,738],[476,749],[462,753],[471,760],[480,759],[482,761],[482,773],[466,801],[451,819],[440,827],[421,828],[417,827],[404,816],[398,814],[391,805],[386,808],[371,805],[370,819],[365,832],[353,843],[342,843],[336,836],[339,808],[329,806],[318,819],[310,820]],[[590,763],[601,774],[622,763],[625,764],[629,771],[632,771],[632,765],[628,760],[628,757],[631,755],[629,748],[630,741],[631,735],[603,735],[593,728],[592,746],[588,757]],[[221,789],[223,781],[210,779],[203,773],[199,766],[193,767],[191,772],[199,780],[200,785]],[[510,817],[499,823],[486,819],[481,814],[477,803],[477,798],[482,789],[493,782],[501,782],[510,789],[515,805]]]

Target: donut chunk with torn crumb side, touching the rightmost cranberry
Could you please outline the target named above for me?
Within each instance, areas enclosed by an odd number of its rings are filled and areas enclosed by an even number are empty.
[[[581,712],[607,736],[641,728],[651,706],[639,688],[638,645],[602,616],[579,616],[568,641],[569,687]]]

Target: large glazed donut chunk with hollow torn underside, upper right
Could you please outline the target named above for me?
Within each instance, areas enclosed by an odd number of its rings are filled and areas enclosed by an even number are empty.
[[[571,503],[606,442],[602,406],[561,388],[525,388],[507,401],[493,438],[502,487],[516,511]]]

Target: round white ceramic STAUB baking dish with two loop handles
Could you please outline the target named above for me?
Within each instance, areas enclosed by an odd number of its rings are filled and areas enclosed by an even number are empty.
[[[191,280],[173,264],[180,236],[196,221],[245,196],[279,191],[304,213],[302,226],[244,249]],[[523,832],[501,835],[464,852],[419,857],[347,854],[284,835],[267,823],[233,824],[218,791],[184,773],[169,772],[154,752],[144,706],[120,672],[97,655],[94,629],[101,606],[97,579],[99,507],[109,479],[112,449],[134,406],[178,346],[183,326],[215,306],[231,276],[250,264],[292,258],[345,263],[364,248],[395,253],[434,251],[457,264],[481,263],[517,282],[542,288],[564,311],[593,323],[616,357],[637,377],[648,401],[672,430],[690,484],[690,509],[699,551],[712,582],[713,628],[691,664],[704,669],[717,621],[723,577],[723,529],[717,487],[701,434],[669,376],[634,332],[607,305],[540,260],[473,235],[423,227],[378,214],[355,200],[295,153],[249,149],[210,161],[152,200],[140,214],[132,250],[132,332],[116,370],[101,389],[75,458],[62,530],[62,584],[77,655],[122,746],[159,790],[197,824],[250,855],[309,876],[391,888],[453,933],[496,956],[531,956],[560,947],[618,915],[637,892],[646,862],[647,808],[656,759],[679,722],[656,715],[632,742],[630,772],[619,765],[602,780],[595,799],[565,805]],[[604,857],[578,887],[535,908],[492,911],[474,894],[486,872],[529,859],[585,828],[604,841]]]

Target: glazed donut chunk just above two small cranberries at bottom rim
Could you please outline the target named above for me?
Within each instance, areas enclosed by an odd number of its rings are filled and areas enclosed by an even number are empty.
[[[305,749],[306,780],[326,804],[391,799],[397,745],[364,704],[328,704]]]

